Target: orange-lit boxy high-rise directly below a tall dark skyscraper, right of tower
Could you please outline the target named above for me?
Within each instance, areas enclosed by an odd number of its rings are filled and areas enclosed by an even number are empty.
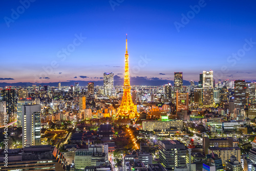
[[[176,92],[176,112],[188,111],[188,93]]]

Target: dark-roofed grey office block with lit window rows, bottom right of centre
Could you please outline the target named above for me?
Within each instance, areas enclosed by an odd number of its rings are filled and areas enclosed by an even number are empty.
[[[176,166],[186,166],[186,147],[178,140],[161,140],[159,159],[167,170],[174,170]]]

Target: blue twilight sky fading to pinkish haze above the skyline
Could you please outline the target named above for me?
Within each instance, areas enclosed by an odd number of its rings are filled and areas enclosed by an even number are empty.
[[[122,78],[126,33],[131,77],[173,80],[183,72],[184,80],[198,81],[202,71],[213,70],[216,80],[256,80],[255,1],[0,5],[2,82],[97,81],[104,72]]]

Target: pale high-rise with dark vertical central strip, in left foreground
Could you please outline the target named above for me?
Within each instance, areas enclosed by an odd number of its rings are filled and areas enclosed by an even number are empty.
[[[22,145],[41,145],[41,105],[22,106]]]

